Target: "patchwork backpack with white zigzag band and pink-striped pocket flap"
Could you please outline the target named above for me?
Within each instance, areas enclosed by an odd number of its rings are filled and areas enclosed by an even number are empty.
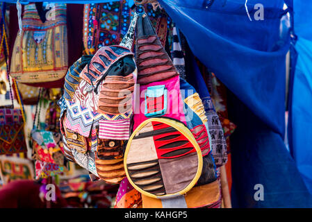
[[[79,65],[81,60],[69,69],[59,101],[65,156],[108,183],[126,176],[124,146],[137,75],[131,52],[136,19],[135,14],[120,45],[103,46],[88,65]]]

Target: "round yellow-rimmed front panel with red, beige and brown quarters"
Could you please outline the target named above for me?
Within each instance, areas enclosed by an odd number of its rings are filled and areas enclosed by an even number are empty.
[[[124,155],[129,182],[152,198],[186,194],[199,179],[202,165],[202,151],[190,130],[164,117],[143,121],[131,135]]]

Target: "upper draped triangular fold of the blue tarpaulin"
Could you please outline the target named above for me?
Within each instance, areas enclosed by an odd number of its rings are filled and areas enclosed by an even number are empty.
[[[245,1],[160,0],[195,56],[258,117],[284,135],[285,56],[289,37],[280,36],[284,1],[262,1],[263,21],[249,21]],[[253,9],[257,0],[249,0]],[[254,10],[249,12],[253,15]]]

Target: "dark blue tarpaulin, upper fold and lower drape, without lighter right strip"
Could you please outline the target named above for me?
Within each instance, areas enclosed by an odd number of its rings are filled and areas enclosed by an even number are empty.
[[[248,13],[245,0],[159,2],[194,55],[231,90],[229,117],[237,126],[231,135],[233,207],[311,207],[284,144],[290,49],[284,1],[261,1],[263,20],[254,19],[256,0],[247,1]],[[258,184],[263,201],[254,198]]]

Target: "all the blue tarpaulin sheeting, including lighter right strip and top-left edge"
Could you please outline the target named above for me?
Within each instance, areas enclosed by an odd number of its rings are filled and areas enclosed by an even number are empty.
[[[158,1],[194,55],[230,90],[229,117],[237,126],[231,135],[233,207],[312,207],[306,188],[312,184],[312,3],[286,1],[293,18],[289,29],[281,22],[287,20],[283,0]],[[260,19],[258,3],[263,6]],[[291,47],[290,31],[297,36]],[[293,157],[284,144],[285,58],[290,49],[295,68],[289,102]],[[264,200],[254,198],[257,184],[264,187]]]

